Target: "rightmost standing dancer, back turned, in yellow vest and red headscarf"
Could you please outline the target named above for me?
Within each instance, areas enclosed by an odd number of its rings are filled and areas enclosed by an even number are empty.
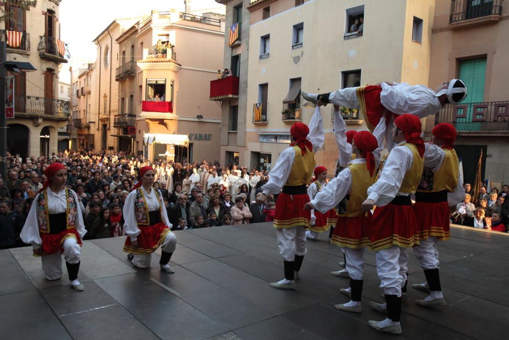
[[[459,178],[458,156],[454,150],[456,128],[449,123],[440,123],[433,128],[432,134],[432,144],[426,144],[425,170],[414,204],[419,245],[413,249],[424,270],[426,282],[412,284],[412,287],[430,294],[423,300],[415,300],[416,304],[425,307],[445,305],[438,272],[437,242],[450,238],[449,205],[456,206],[465,198],[463,179]]]

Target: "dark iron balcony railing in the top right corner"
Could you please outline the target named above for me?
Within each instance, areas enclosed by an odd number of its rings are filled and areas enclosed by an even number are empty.
[[[503,0],[451,0],[449,23],[479,18],[483,16],[502,15]]]

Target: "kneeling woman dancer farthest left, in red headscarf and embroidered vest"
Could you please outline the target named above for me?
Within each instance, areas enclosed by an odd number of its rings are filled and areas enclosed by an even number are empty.
[[[62,277],[64,254],[71,288],[84,290],[78,281],[81,240],[87,233],[78,196],[65,187],[67,169],[62,163],[53,163],[44,170],[46,180],[34,199],[20,233],[24,243],[31,244],[35,256],[41,256],[44,277],[50,281]]]

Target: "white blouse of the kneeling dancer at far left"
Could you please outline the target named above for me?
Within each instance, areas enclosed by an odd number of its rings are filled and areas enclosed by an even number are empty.
[[[65,194],[65,189],[62,189],[58,194],[55,194],[51,191],[51,189],[46,189],[48,193],[48,213],[49,214],[60,214],[65,213],[67,211],[67,197]],[[83,236],[87,233],[87,229],[85,229],[85,224],[83,223],[83,216],[81,215],[81,206],[79,205],[78,196],[72,190],[69,192],[74,196],[74,201],[76,202],[76,220],[74,227],[79,234],[79,237],[83,239]],[[19,237],[23,240],[24,243],[31,244],[34,249],[42,247],[42,240],[39,234],[39,220],[37,218],[37,201],[40,194],[37,194],[34,198],[34,202],[32,203],[32,207],[30,208],[29,214],[26,217],[25,224]]]

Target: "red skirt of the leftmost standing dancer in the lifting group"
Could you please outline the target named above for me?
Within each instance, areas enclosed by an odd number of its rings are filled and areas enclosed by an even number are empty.
[[[304,210],[304,205],[307,202],[309,202],[307,194],[288,195],[280,193],[276,201],[274,228],[292,228],[299,225],[308,228],[311,211]]]

